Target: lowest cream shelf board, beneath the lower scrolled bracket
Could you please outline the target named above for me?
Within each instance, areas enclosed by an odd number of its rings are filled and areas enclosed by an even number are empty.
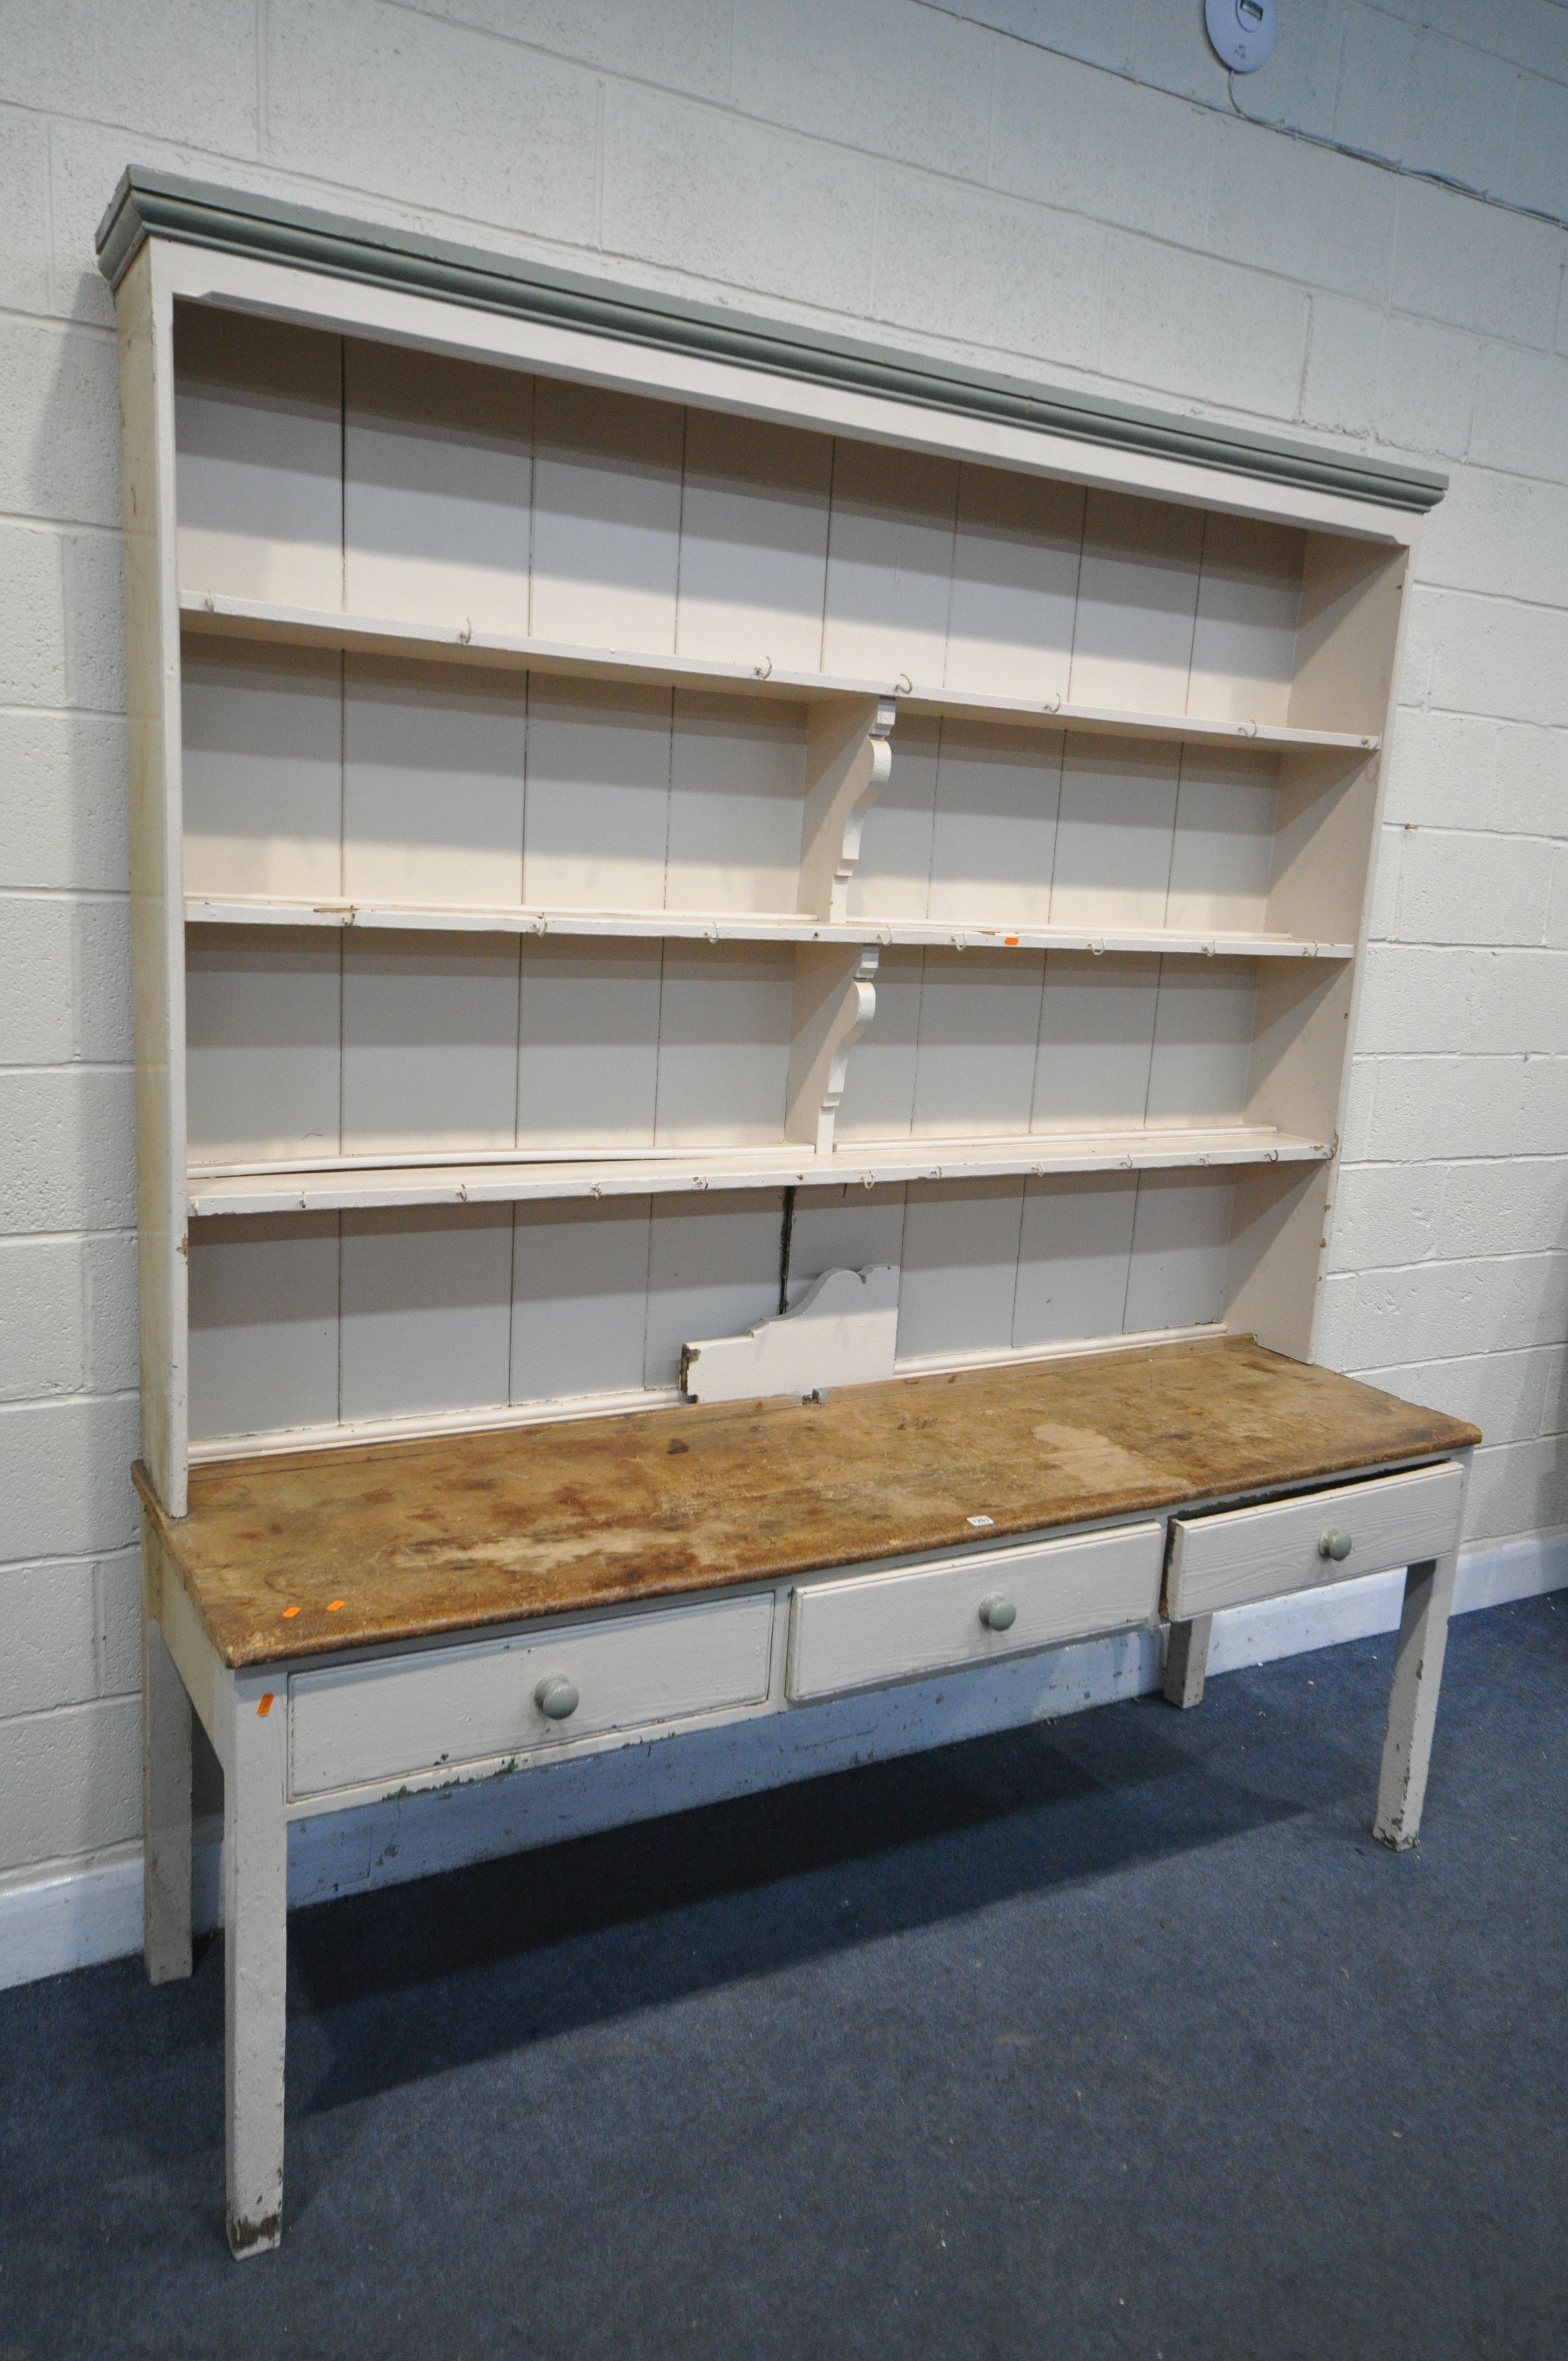
[[[1266,1126],[1216,1131],[1027,1133],[1023,1138],[848,1140],[831,1155],[791,1147],[574,1147],[517,1155],[316,1157],[191,1166],[189,1211],[319,1214],[349,1206],[527,1204],[548,1197],[647,1197],[671,1190],[883,1188],[1023,1173],[1183,1171],[1322,1164],[1322,1140]]]

